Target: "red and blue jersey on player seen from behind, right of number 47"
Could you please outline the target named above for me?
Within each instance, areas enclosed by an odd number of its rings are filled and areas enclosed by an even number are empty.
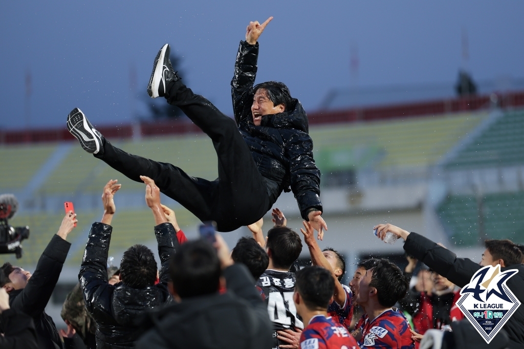
[[[324,315],[314,316],[300,335],[300,349],[356,349],[357,342],[339,323]]]

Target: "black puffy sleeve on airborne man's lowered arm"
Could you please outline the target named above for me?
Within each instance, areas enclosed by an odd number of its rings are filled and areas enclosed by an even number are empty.
[[[320,202],[320,170],[313,160],[313,141],[304,132],[297,132],[288,141],[286,157],[289,159],[291,190],[297,199],[300,215],[308,220],[308,210],[322,212]]]

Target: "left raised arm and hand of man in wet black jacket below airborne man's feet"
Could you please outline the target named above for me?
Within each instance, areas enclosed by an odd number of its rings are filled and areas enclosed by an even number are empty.
[[[114,194],[121,188],[116,180],[110,180],[102,193],[104,215],[101,222],[91,225],[84,258],[80,266],[79,280],[84,294],[85,307],[93,313],[93,306],[102,292],[114,286],[107,282],[107,255],[113,227],[110,225],[116,212]],[[106,308],[105,311],[111,311]]]

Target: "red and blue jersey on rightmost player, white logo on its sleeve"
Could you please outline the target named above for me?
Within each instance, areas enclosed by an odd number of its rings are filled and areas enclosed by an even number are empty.
[[[363,319],[361,348],[413,349],[410,326],[403,314],[389,309],[374,320]]]

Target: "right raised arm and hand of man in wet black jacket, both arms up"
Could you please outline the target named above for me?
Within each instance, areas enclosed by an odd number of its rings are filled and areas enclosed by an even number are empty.
[[[167,285],[169,281],[169,260],[176,253],[180,245],[175,228],[173,224],[169,222],[165,213],[166,211],[169,212],[170,209],[160,203],[160,189],[151,178],[140,176],[140,179],[146,183],[146,203],[155,218],[155,237],[157,238],[158,255],[160,257],[160,282]]]

